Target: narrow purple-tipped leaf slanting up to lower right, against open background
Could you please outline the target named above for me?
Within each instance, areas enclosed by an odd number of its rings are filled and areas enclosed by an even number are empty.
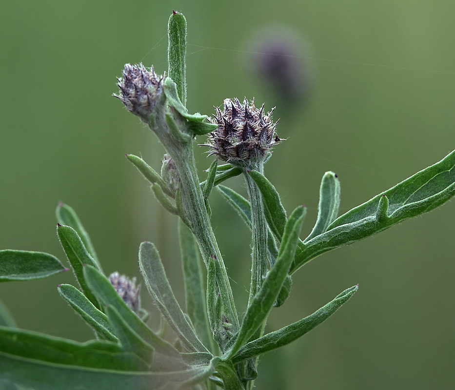
[[[317,325],[329,318],[341,307],[341,305],[346,303],[347,300],[354,295],[357,289],[358,286],[351,287],[350,289],[341,292],[333,301],[321,307],[308,317],[245,344],[232,358],[233,363],[250,359],[261,355],[264,352],[275,350],[297,340],[297,338],[303,336],[305,333],[308,333],[312,329],[316,328]]]

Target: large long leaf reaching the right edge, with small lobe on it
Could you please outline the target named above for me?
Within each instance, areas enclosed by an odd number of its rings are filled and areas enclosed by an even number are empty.
[[[404,219],[431,211],[455,195],[455,151],[383,194],[338,217],[323,234],[299,243],[290,273],[342,245],[381,232]]]

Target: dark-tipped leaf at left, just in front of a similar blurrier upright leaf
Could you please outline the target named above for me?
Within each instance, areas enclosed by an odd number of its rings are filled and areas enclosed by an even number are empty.
[[[99,302],[88,288],[82,272],[84,265],[90,265],[98,269],[97,263],[95,263],[90,254],[87,253],[79,235],[72,227],[62,226],[59,224],[57,226],[57,234],[82,292],[90,300],[90,302],[99,308]]]

